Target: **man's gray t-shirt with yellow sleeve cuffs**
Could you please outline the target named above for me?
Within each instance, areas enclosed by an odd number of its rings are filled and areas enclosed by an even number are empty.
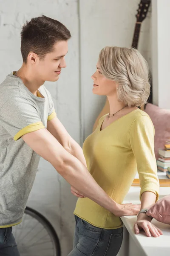
[[[0,227],[22,220],[40,160],[21,136],[46,128],[56,116],[43,85],[37,95],[13,74],[0,84]]]

